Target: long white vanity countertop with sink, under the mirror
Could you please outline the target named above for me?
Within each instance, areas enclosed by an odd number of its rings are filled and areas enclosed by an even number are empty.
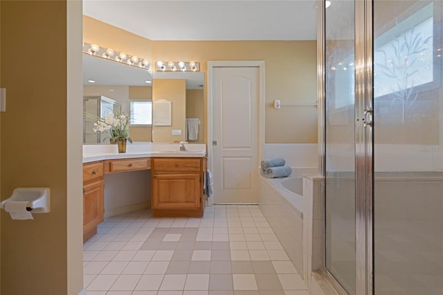
[[[126,152],[119,154],[117,145],[83,145],[83,163],[109,159],[143,157],[195,157],[206,155],[206,145],[186,143],[187,151],[181,151],[179,143],[127,143]]]

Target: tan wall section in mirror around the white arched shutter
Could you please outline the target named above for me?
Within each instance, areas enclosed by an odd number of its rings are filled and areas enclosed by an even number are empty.
[[[154,79],[152,80],[152,101],[170,100],[172,102],[172,125],[154,126],[152,141],[156,143],[172,143],[185,140],[186,120],[186,80]],[[181,135],[172,135],[172,129],[181,129]]]

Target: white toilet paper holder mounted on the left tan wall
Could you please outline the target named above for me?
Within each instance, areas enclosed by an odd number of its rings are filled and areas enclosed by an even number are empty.
[[[48,213],[50,211],[51,195],[49,188],[15,188],[8,199],[0,203],[4,209],[7,202],[28,202],[26,211],[30,213]]]

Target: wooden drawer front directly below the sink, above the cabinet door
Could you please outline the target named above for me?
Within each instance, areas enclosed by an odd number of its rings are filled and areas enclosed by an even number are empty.
[[[154,173],[200,172],[200,159],[155,158]]]

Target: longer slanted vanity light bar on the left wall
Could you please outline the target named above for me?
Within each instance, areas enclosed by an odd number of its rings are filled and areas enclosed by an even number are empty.
[[[83,42],[83,53],[102,57],[113,62],[121,62],[129,66],[136,66],[137,68],[150,70],[150,61],[139,58],[136,55],[127,55],[123,51],[114,51],[112,48],[103,48],[97,44],[89,44]]]

